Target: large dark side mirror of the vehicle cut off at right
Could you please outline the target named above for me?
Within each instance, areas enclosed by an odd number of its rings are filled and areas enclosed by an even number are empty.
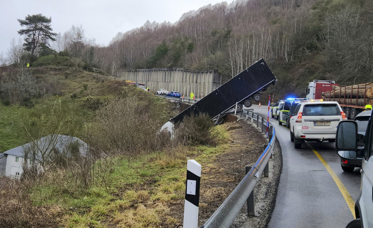
[[[355,151],[357,149],[357,134],[355,121],[339,122],[336,134],[337,151]]]

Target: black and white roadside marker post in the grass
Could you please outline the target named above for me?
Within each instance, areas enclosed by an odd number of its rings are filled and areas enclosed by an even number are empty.
[[[184,204],[184,228],[198,227],[198,209],[200,202],[201,164],[195,160],[187,163],[187,185]]]

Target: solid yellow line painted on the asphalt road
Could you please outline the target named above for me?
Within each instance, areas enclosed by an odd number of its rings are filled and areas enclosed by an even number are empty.
[[[342,184],[342,182],[338,178],[337,174],[333,171],[333,169],[329,166],[329,164],[324,160],[324,158],[321,157],[321,155],[309,143],[306,142],[306,144],[309,146],[309,148],[311,148],[313,153],[315,153],[317,158],[320,159],[321,163],[323,163],[325,168],[328,170],[329,174],[333,177],[334,182],[336,182],[340,193],[343,195],[344,200],[346,200],[346,203],[347,203],[348,207],[350,208],[350,211],[351,211],[352,215],[356,219],[356,216],[355,216],[355,202],[352,199],[351,195],[348,193],[346,187],[344,187],[344,185]]]

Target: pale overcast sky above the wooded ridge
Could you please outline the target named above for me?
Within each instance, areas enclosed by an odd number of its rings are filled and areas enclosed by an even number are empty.
[[[174,23],[183,13],[222,1],[233,0],[0,0],[0,55],[6,57],[12,38],[21,37],[17,19],[28,14],[52,17],[54,33],[81,25],[87,39],[106,46],[117,33],[141,27],[147,20]]]

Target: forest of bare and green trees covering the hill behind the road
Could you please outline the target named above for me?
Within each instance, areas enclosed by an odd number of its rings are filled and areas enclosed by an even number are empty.
[[[147,22],[118,33],[107,47],[85,40],[83,28],[73,26],[57,34],[54,49],[81,59],[87,71],[216,69],[223,83],[263,58],[280,85],[269,93],[302,96],[313,79],[372,81],[372,19],[370,0],[237,0],[187,12],[175,24]]]

